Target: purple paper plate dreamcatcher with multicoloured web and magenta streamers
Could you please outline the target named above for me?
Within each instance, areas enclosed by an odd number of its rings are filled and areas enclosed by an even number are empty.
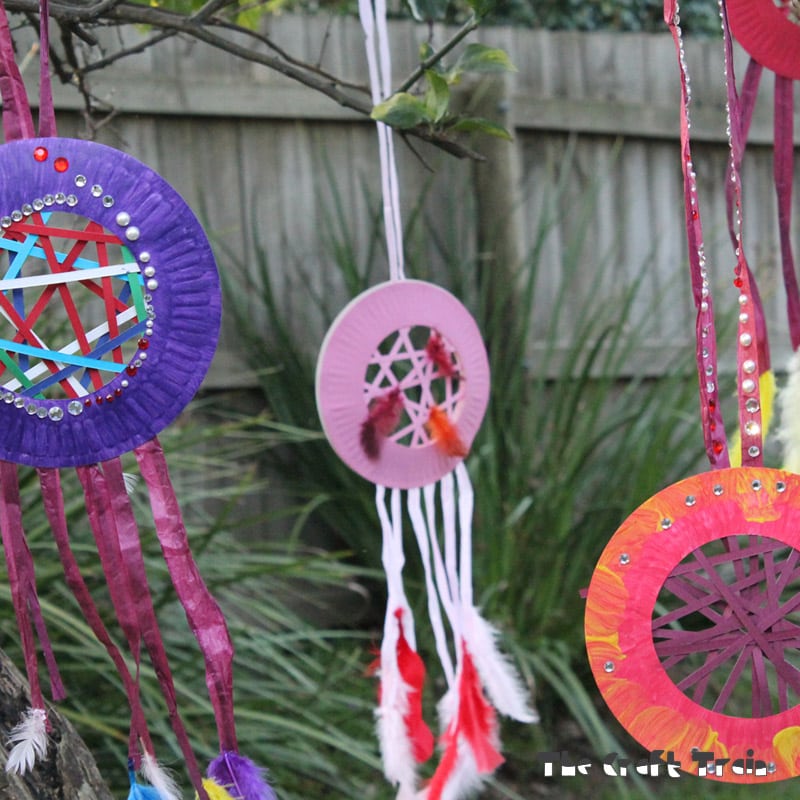
[[[9,771],[47,754],[47,710],[36,640],[54,700],[64,687],[36,594],[20,509],[17,464],[36,468],[66,580],[117,668],[131,707],[131,800],[177,800],[158,766],[139,699],[146,650],[186,767],[203,800],[271,800],[262,770],[239,755],[233,648],[198,572],[156,435],[199,387],[220,321],[208,241],[181,197],[132,157],[56,135],[41,8],[38,138],[0,5],[0,529],[31,707],[11,732]],[[220,756],[203,778],[178,713],[119,456],[133,451],[147,486],[167,567],[206,665]],[[113,643],[72,552],[59,469],[74,467],[133,659]],[[141,770],[149,785],[139,784]]]

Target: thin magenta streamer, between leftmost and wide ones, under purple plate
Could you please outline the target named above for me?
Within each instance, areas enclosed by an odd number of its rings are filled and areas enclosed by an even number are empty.
[[[80,605],[84,618],[92,629],[92,632],[97,637],[97,640],[106,648],[106,652],[114,662],[114,666],[117,668],[120,680],[125,688],[128,704],[131,707],[131,733],[128,756],[138,769],[140,760],[139,742],[142,743],[146,752],[150,754],[154,752],[153,743],[150,739],[150,733],[145,721],[144,709],[142,708],[139,696],[138,680],[134,680],[125,662],[125,658],[111,639],[108,629],[104,625],[100,612],[97,610],[97,606],[89,592],[89,588],[83,579],[78,562],[75,559],[75,554],[72,551],[69,541],[67,520],[64,514],[64,498],[61,491],[61,478],[58,470],[40,468],[37,469],[37,474],[39,476],[39,485],[42,489],[45,513],[50,522],[53,538],[58,548],[58,554],[64,568],[64,577],[67,581],[67,586],[69,586],[78,605]],[[137,665],[136,676],[138,679],[138,656],[135,658],[135,661]]]

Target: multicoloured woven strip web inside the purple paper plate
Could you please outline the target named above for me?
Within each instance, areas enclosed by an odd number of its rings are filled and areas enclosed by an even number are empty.
[[[132,254],[101,224],[34,211],[0,238],[0,385],[76,398],[128,368],[147,319]]]

